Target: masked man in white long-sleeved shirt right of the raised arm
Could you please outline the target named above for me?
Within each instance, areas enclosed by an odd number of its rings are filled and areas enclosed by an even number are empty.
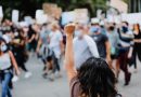
[[[98,48],[95,42],[89,37],[85,30],[84,25],[78,25],[75,31],[75,38],[73,40],[74,45],[74,57],[75,66],[77,69],[80,65],[90,57],[99,57]]]

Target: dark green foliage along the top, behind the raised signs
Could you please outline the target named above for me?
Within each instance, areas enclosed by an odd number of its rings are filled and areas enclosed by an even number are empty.
[[[13,9],[20,10],[21,17],[24,15],[34,16],[37,9],[42,9],[43,2],[57,3],[59,6],[63,8],[63,11],[87,8],[91,16],[97,14],[98,9],[106,11],[106,0],[0,0],[5,17],[11,17]]]

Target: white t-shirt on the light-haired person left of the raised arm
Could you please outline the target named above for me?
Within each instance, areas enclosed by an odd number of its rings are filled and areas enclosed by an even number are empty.
[[[60,30],[56,30],[55,32],[51,32],[49,37],[50,37],[49,47],[54,52],[55,57],[60,58],[61,56],[60,43],[61,41],[63,41],[63,36]]]

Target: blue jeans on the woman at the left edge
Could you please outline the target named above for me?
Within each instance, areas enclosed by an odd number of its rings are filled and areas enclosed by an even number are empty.
[[[4,73],[4,79],[2,80],[2,95],[1,97],[12,97],[9,83],[11,81],[12,74],[11,72]]]

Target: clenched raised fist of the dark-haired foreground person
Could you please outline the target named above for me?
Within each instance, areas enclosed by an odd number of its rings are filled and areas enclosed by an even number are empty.
[[[66,36],[73,36],[73,33],[75,32],[75,24],[66,25],[64,31]]]

